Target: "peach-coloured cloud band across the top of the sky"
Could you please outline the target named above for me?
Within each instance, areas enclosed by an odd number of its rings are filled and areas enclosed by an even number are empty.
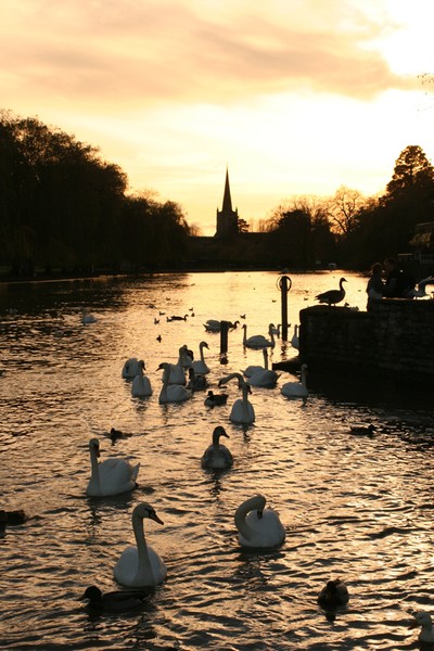
[[[24,91],[35,105],[73,101],[80,110],[91,104],[114,114],[120,107],[230,104],[294,90],[369,100],[408,86],[374,46],[393,26],[348,0],[3,4],[9,8],[0,26],[0,78],[9,101]]]

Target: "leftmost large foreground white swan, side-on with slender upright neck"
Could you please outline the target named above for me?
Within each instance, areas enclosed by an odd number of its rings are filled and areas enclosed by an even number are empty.
[[[86,489],[91,497],[119,495],[133,490],[137,487],[137,476],[140,463],[131,465],[126,459],[110,458],[98,462],[100,456],[100,442],[98,438],[89,441],[91,476]]]

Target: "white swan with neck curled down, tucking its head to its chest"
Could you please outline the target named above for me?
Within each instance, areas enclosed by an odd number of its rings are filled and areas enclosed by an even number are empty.
[[[266,509],[266,501],[264,495],[255,495],[237,509],[234,521],[242,547],[278,547],[285,539],[278,513]]]

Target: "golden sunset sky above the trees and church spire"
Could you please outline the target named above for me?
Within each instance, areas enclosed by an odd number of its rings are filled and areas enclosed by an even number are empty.
[[[432,0],[0,0],[1,107],[75,135],[214,234],[383,192],[434,157]],[[427,77],[421,77],[421,75]]]

